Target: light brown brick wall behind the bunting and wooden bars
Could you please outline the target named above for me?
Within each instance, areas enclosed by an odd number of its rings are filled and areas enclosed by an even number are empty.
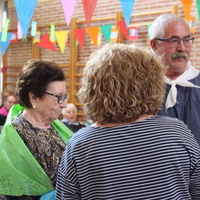
[[[122,11],[119,0],[98,0],[97,5],[93,14],[92,19],[96,18],[113,18],[116,16],[116,12]],[[134,10],[132,14],[138,14],[143,12],[156,12],[164,11],[172,8],[172,4],[178,4],[178,14],[184,17],[183,8],[181,0],[136,0],[134,5]],[[196,1],[194,1],[191,8],[192,16],[198,19]],[[139,26],[139,39],[135,43],[140,46],[149,46],[149,39],[147,37],[147,26],[145,24],[151,23],[159,14],[151,14],[146,16],[132,17],[131,25]],[[9,8],[8,17],[10,18],[10,29],[16,29],[17,27],[17,16],[15,8]],[[79,21],[84,21],[84,11],[82,7],[82,1],[77,0],[76,7],[73,13],[73,17],[78,18]],[[37,21],[38,26],[50,25],[50,23],[60,24],[65,23],[64,13],[62,10],[61,0],[51,0],[45,2],[38,2],[32,20]],[[92,21],[89,27],[101,26],[105,24],[115,25],[114,19],[107,19],[104,21]],[[79,23],[78,28],[88,28],[85,22]],[[42,33],[49,32],[50,26],[41,29]],[[56,30],[70,30],[67,25],[56,27]],[[195,33],[195,43],[193,45],[191,61],[193,65],[200,69],[200,38],[199,38],[199,22],[197,21],[196,33]],[[69,38],[70,40],[70,38]],[[70,59],[70,48],[69,45],[65,48],[65,53],[62,54],[59,47],[56,46],[57,51],[51,51],[48,49],[40,48],[40,58],[50,59],[56,61],[60,65],[69,64]],[[78,50],[78,63],[85,64],[88,56],[95,50],[94,45],[91,44],[89,35],[86,33],[84,48]],[[31,59],[32,49],[31,40],[20,41],[19,43],[13,43],[9,45],[7,50],[7,64],[8,66],[22,66],[27,60]],[[81,71],[82,68],[77,70]],[[10,69],[9,73],[17,74],[19,69]],[[14,77],[9,77],[9,81],[15,82],[17,75]],[[15,84],[9,85],[11,90],[14,90]],[[76,92],[76,91],[71,91]],[[78,101],[78,100],[77,100]],[[79,106],[79,112],[82,112],[82,107]],[[84,118],[81,118],[84,120]]]

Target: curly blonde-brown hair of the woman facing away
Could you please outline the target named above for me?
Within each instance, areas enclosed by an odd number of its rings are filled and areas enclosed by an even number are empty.
[[[88,118],[100,124],[155,115],[165,91],[162,61],[149,49],[109,43],[94,52],[78,92]]]

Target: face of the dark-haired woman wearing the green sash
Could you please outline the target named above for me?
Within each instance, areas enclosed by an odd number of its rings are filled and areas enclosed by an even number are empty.
[[[46,91],[54,95],[66,95],[66,82],[54,81],[49,83]],[[49,94],[44,94],[42,98],[36,99],[37,111],[43,117],[44,120],[52,122],[57,119],[62,108],[67,106],[67,99],[63,103],[58,103],[58,98]]]

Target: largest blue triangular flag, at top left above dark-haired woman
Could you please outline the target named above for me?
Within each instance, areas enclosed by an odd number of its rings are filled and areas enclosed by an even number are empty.
[[[21,25],[23,37],[25,38],[28,33],[30,21],[32,19],[35,7],[38,0],[14,0],[17,17]]]

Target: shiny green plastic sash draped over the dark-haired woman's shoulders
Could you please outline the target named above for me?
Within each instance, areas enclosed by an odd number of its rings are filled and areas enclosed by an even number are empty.
[[[43,195],[54,190],[51,181],[11,124],[22,110],[19,104],[11,108],[0,134],[0,194]],[[52,125],[67,143],[73,132],[60,120]]]

